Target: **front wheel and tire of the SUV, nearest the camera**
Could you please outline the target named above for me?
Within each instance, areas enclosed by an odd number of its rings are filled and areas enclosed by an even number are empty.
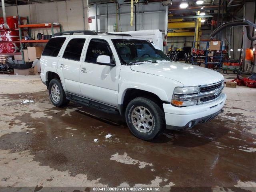
[[[154,101],[144,97],[130,101],[126,107],[125,118],[132,134],[142,140],[151,140],[166,128],[163,110]]]

